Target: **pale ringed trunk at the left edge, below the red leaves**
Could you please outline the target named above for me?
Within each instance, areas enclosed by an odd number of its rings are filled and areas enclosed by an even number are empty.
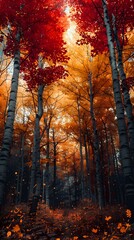
[[[18,43],[20,42],[20,33],[16,35],[16,42]],[[20,72],[20,49],[17,49],[14,54],[13,77],[11,82],[7,119],[0,153],[0,206],[4,203],[5,197],[7,164],[8,159],[10,157],[10,148],[13,137],[13,124],[15,119],[19,72]]]

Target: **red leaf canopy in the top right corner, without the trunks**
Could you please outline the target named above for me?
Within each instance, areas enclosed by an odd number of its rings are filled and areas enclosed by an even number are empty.
[[[78,44],[90,43],[93,54],[107,49],[107,38],[103,20],[102,0],[68,0],[72,6],[72,19],[78,25],[81,39]],[[107,0],[110,22],[112,14],[116,18],[116,25],[121,44],[127,42],[126,32],[130,31],[134,23],[134,7],[132,0]]]

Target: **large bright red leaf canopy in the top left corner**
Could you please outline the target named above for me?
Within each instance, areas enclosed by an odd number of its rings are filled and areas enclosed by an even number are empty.
[[[0,0],[0,22],[2,28],[8,28],[5,54],[14,56],[15,50],[19,47],[22,58],[21,70],[27,68],[29,74],[33,76],[33,82],[35,76],[38,76],[36,81],[40,82],[41,74],[35,74],[37,69],[33,75],[33,67],[36,66],[34,62],[38,60],[40,53],[43,58],[51,59],[54,63],[68,60],[63,41],[63,32],[67,28],[64,10],[62,0]],[[18,32],[21,36],[20,43],[16,41]],[[52,69],[54,72],[57,71],[57,67]],[[41,72],[41,69],[38,72]],[[61,71],[59,75],[61,77]],[[29,76],[28,79],[32,78]]]

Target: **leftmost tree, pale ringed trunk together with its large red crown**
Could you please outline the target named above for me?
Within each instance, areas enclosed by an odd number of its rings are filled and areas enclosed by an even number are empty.
[[[44,77],[45,81],[49,82],[48,74],[52,73],[53,70],[55,78],[56,61],[67,60],[67,57],[62,37],[66,25],[62,21],[65,17],[62,1],[56,4],[55,1],[50,2],[49,0],[41,2],[36,0],[5,2],[1,0],[0,13],[2,27],[7,29],[7,45],[4,52],[14,58],[11,92],[0,155],[0,205],[2,205],[6,184],[6,166],[12,142],[20,65],[28,86],[34,87],[42,83]],[[45,71],[38,69],[36,72],[38,64],[36,62],[38,62],[40,53],[42,53],[43,58],[52,59],[54,64],[52,68],[48,67]],[[35,64],[32,65],[32,63]],[[56,70],[57,68],[60,69],[60,73],[63,73],[62,67],[56,66]],[[26,69],[29,70],[30,76]],[[35,72],[35,77],[32,79]]]

